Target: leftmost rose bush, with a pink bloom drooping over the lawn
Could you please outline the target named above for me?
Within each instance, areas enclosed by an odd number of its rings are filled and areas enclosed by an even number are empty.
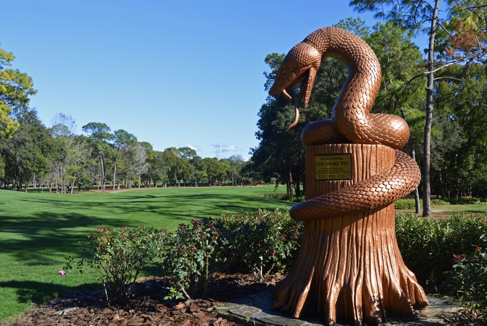
[[[93,259],[77,262],[80,272],[84,265],[100,273],[109,304],[123,306],[129,300],[133,286],[144,265],[154,256],[155,229],[139,226],[122,227],[118,231],[101,227],[88,235],[82,252],[93,253]],[[65,269],[72,269],[72,257],[67,257]]]

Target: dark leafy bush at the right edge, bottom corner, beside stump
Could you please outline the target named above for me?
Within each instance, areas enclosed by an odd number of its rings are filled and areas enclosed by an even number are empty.
[[[473,244],[469,255],[454,255],[456,263],[450,271],[452,294],[459,295],[468,302],[471,310],[487,310],[487,236],[483,235],[478,244]]]

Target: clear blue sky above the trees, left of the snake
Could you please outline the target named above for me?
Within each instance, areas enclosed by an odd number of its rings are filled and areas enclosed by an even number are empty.
[[[2,1],[1,47],[29,74],[30,106],[48,127],[71,115],[125,129],[163,151],[250,157],[267,93],[264,58],[360,17],[348,0]]]

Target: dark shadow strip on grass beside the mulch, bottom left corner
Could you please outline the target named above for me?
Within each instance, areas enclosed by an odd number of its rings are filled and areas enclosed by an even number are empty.
[[[18,303],[34,303],[36,305],[42,305],[64,293],[100,290],[100,284],[87,283],[70,287],[36,281],[12,280],[0,282],[0,288],[14,289],[17,294]]]

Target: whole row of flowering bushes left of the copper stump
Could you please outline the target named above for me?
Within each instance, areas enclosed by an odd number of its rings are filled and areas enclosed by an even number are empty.
[[[301,228],[280,210],[225,215],[216,223],[193,219],[174,233],[144,227],[115,232],[102,227],[83,243],[82,251],[93,252],[94,258],[78,261],[78,269],[82,271],[84,265],[97,269],[107,300],[123,305],[142,267],[157,254],[163,275],[171,281],[167,298],[191,298],[207,294],[208,278],[214,272],[244,268],[260,281],[273,269],[283,272],[297,256]],[[72,264],[68,257],[65,269]]]

